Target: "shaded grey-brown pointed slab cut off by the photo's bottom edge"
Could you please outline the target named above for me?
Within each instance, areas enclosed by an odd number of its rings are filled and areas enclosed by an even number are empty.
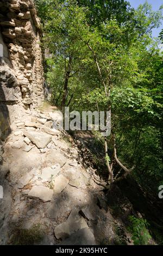
[[[83,228],[61,241],[59,245],[96,245],[95,236],[89,228]]]

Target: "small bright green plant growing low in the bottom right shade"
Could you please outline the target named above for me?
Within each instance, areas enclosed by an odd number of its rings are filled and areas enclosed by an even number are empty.
[[[149,223],[143,218],[136,218],[129,216],[130,226],[128,230],[133,236],[131,239],[134,241],[134,245],[148,245],[149,240],[152,239],[148,231]]]

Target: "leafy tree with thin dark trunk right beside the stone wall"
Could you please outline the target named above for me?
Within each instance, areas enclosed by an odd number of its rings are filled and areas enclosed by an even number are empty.
[[[46,7],[46,8],[45,8]],[[46,1],[38,2],[37,8],[41,12],[41,16],[48,10],[48,15],[43,17],[43,29],[45,38],[43,38],[44,46],[52,53],[55,63],[60,60],[60,64],[64,66],[64,83],[61,86],[62,101],[61,108],[64,109],[68,96],[68,83],[70,78],[77,75],[82,69],[80,63],[83,45],[78,38],[77,31],[72,33],[74,27],[80,26],[84,22],[83,8],[79,8],[75,1],[51,1],[46,5]],[[63,70],[62,70],[63,71]]]

